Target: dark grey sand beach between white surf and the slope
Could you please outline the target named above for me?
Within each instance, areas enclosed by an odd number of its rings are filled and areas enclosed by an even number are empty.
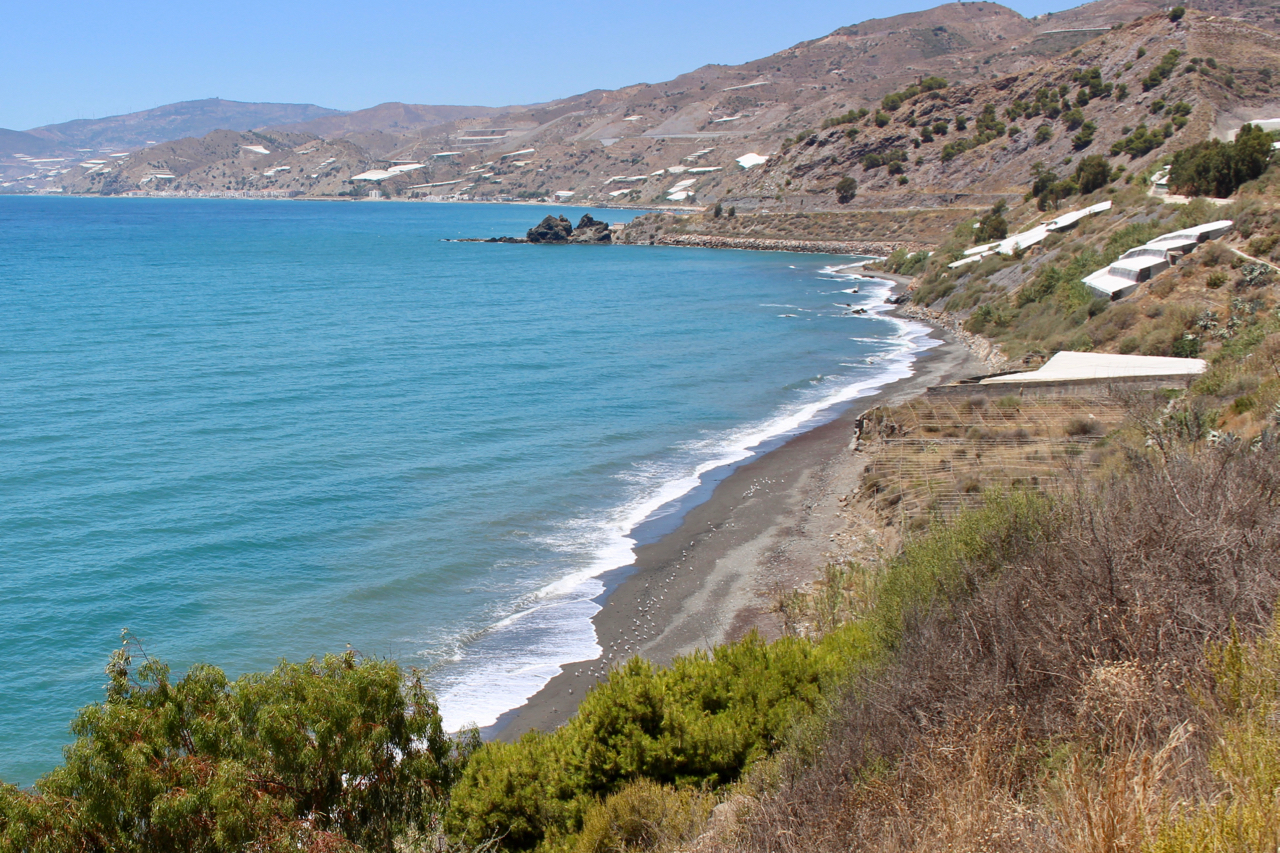
[[[852,447],[858,418],[987,371],[950,333],[932,334],[942,343],[916,359],[911,377],[741,465],[673,533],[637,547],[632,573],[594,619],[604,654],[563,666],[498,721],[495,736],[515,740],[562,725],[596,680],[631,657],[669,663],[753,628],[780,635],[778,592],[812,583],[827,562],[849,556],[841,552],[850,526],[838,501],[858,489],[864,465]]]

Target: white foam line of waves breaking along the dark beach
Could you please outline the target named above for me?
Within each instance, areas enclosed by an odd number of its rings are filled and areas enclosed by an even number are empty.
[[[677,470],[668,465],[641,476],[641,487],[632,500],[603,516],[567,523],[554,544],[562,552],[586,552],[582,567],[538,589],[524,608],[503,617],[468,644],[462,656],[466,674],[439,697],[448,730],[493,725],[503,713],[527,702],[559,674],[561,666],[595,660],[603,653],[591,621],[600,611],[594,599],[604,592],[602,576],[605,573],[634,562],[635,530],[644,521],[675,511],[676,502],[701,485],[703,478],[712,471],[748,460],[763,444],[833,416],[837,406],[913,375],[915,357],[937,345],[928,337],[929,328],[914,320],[886,316],[892,310],[884,302],[892,282],[846,270],[847,265],[819,272],[859,284],[864,296],[860,302],[868,309],[860,319],[876,318],[896,327],[896,334],[879,338],[896,346],[879,356],[877,375],[842,384],[764,421],[689,442],[680,450],[692,460],[678,464]]]

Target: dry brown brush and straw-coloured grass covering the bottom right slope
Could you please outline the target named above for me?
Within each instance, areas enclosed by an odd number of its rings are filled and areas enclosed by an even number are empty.
[[[1000,549],[1001,570],[956,567],[722,849],[1139,850],[1220,797],[1204,649],[1271,624],[1280,460],[1146,455]]]

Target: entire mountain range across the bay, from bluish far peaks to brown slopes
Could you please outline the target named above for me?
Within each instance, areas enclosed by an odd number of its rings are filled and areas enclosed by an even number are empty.
[[[401,197],[559,197],[645,206],[717,199],[759,204],[768,195],[785,197],[788,205],[826,207],[836,204],[826,183],[847,172],[846,164],[826,156],[797,174],[783,175],[778,163],[772,163],[748,175],[737,159],[754,155],[750,163],[763,163],[787,140],[820,129],[827,119],[850,110],[876,110],[884,95],[924,77],[946,78],[954,93],[948,101],[966,96],[1018,100],[1024,86],[1006,92],[1009,83],[1001,81],[1028,74],[1074,91],[1070,69],[1085,61],[1107,65],[1108,79],[1119,81],[1115,74],[1129,69],[1111,69],[1115,63],[1107,59],[1108,51],[1120,47],[1116,42],[1132,47],[1128,42],[1138,37],[1128,35],[1133,22],[1164,14],[1162,6],[1149,0],[1098,0],[1024,18],[995,3],[954,3],[844,27],[741,65],[705,65],[664,83],[596,90],[538,105],[393,102],[343,113],[210,99],[27,132],[0,131],[0,191],[362,196],[379,190]],[[1274,32],[1266,32],[1277,26],[1274,3],[1204,0],[1196,8],[1215,15],[1202,14],[1197,20],[1213,20],[1220,32],[1239,26],[1274,38]],[[1108,35],[1119,27],[1125,28],[1121,35]],[[1151,29],[1149,50],[1165,42],[1188,47],[1188,27],[1171,33]],[[1105,38],[1111,44],[1088,46]],[[1213,90],[1213,106],[1206,106],[1213,114],[1193,123],[1197,133],[1206,132],[1219,111],[1248,114],[1270,92],[1270,78],[1254,81],[1251,68],[1272,63],[1276,51],[1254,36],[1242,38],[1252,40],[1252,46],[1238,55],[1242,73],[1233,79],[1248,81],[1251,88]],[[1235,61],[1230,53],[1213,55],[1224,65]],[[1139,64],[1151,61],[1155,58]],[[1275,70],[1280,73],[1280,67]],[[972,93],[961,95],[969,91],[964,87]],[[1199,99],[1208,92],[1202,88],[1188,90],[1187,97]],[[1123,110],[1125,115],[1133,102]],[[956,106],[961,111],[963,105]],[[1117,124],[1112,132],[1114,122],[1105,111],[1089,119],[1101,126],[1100,140],[1108,143],[1121,129]],[[863,156],[879,137],[884,146],[904,141],[914,146],[910,128],[896,124],[863,131],[856,143],[842,137],[840,147],[845,156]],[[129,156],[111,158],[124,152]],[[913,159],[922,155],[913,151]],[[1005,183],[1024,181],[1028,167],[1019,159],[1002,175]],[[934,172],[941,179],[946,169]],[[675,183],[681,188],[672,190],[675,184],[664,175],[680,175]],[[982,183],[988,192],[1002,186],[992,179]],[[799,186],[806,186],[806,192],[792,190]],[[886,183],[886,196],[908,199],[920,190],[914,182],[910,193],[899,186]],[[943,182],[931,197],[941,202],[960,188]],[[856,204],[869,204],[870,196],[864,192],[861,199]]]

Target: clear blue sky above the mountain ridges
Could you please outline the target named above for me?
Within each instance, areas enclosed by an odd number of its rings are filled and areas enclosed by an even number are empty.
[[[530,104],[767,56],[937,3],[6,4],[0,127],[173,101]],[[1024,15],[1071,0],[1010,3]]]

